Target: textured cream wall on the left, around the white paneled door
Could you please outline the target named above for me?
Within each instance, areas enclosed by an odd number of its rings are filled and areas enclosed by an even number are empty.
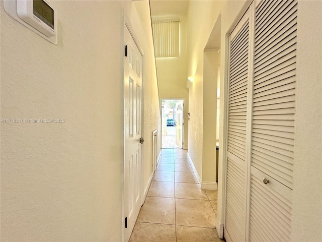
[[[64,119],[1,123],[1,240],[121,241],[122,8],[142,34],[148,2],[138,10],[131,1],[51,3],[57,45],[1,6],[1,118]],[[147,42],[148,134],[160,121]]]

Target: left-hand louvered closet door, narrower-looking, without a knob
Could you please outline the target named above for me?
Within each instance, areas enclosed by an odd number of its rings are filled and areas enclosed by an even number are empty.
[[[224,234],[245,241],[247,199],[247,103],[250,85],[250,10],[229,36],[227,181]]]

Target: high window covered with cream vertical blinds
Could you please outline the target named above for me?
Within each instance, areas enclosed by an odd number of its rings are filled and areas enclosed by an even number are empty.
[[[155,57],[179,56],[179,21],[152,22]]]

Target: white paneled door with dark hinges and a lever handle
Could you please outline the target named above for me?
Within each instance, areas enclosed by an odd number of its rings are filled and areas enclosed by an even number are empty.
[[[142,54],[128,28],[124,56],[124,214],[129,240],[142,205]]]

